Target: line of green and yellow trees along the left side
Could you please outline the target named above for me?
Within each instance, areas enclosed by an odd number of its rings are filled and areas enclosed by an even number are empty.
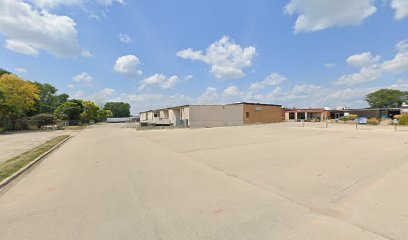
[[[130,105],[70,99],[49,83],[30,82],[0,69],[0,131],[41,128],[64,121],[69,125],[103,122],[110,117],[130,117]]]

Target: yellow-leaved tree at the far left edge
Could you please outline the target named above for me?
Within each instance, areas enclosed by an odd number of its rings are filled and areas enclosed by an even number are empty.
[[[16,119],[34,109],[40,98],[38,88],[13,74],[0,77],[0,116],[3,119]]]

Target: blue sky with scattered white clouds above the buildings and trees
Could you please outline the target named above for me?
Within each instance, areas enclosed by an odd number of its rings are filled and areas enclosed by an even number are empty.
[[[408,0],[0,0],[0,67],[132,113],[408,90]]]

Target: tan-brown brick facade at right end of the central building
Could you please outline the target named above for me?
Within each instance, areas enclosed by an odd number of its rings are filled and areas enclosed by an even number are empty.
[[[281,106],[263,104],[243,104],[244,124],[276,123],[285,118],[285,111]]]

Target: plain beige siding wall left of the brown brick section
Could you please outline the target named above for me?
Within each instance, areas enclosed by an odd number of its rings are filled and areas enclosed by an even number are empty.
[[[242,126],[242,105],[190,106],[191,127]]]

